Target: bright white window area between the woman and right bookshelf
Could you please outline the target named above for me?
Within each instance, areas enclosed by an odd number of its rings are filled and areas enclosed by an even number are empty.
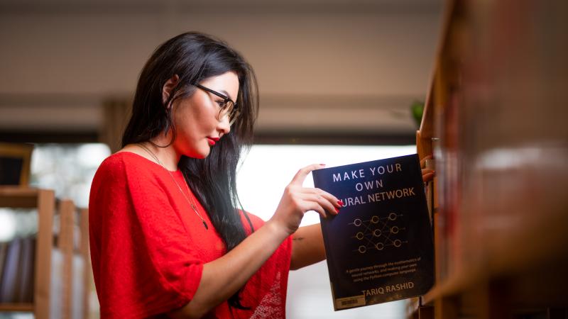
[[[246,211],[263,220],[273,215],[286,185],[297,170],[313,163],[334,167],[386,157],[413,154],[408,146],[255,145],[244,156],[237,175],[239,197]],[[304,186],[313,187],[312,175]],[[319,215],[307,213],[301,225],[319,223]],[[334,312],[326,262],[290,272],[286,305],[290,319],[405,318],[405,302]]]

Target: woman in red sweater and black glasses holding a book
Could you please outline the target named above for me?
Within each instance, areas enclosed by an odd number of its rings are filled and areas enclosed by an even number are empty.
[[[144,66],[123,148],[101,164],[89,199],[102,318],[283,318],[288,270],[324,259],[306,211],[342,203],[297,172],[264,223],[239,210],[235,171],[250,145],[258,91],[225,43],[184,33]],[[292,240],[291,236],[297,240]]]

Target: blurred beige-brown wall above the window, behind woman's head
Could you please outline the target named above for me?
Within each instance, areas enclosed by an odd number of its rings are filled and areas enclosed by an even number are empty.
[[[96,135],[157,45],[202,30],[256,70],[259,133],[413,136],[439,2],[2,0],[0,132]]]

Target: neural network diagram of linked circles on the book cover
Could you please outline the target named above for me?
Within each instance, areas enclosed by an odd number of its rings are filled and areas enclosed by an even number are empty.
[[[359,241],[359,248],[353,251],[364,254],[368,250],[384,250],[386,247],[398,248],[408,243],[407,240],[401,240],[398,236],[406,228],[395,225],[396,220],[402,216],[398,213],[389,213],[386,217],[372,216],[369,220],[355,218],[349,225],[356,228],[357,233],[351,238]]]

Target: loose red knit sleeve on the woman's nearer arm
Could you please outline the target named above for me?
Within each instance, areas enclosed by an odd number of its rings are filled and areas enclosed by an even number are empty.
[[[165,186],[142,167],[109,157],[94,177],[89,230],[102,318],[146,318],[195,294],[203,260]]]

